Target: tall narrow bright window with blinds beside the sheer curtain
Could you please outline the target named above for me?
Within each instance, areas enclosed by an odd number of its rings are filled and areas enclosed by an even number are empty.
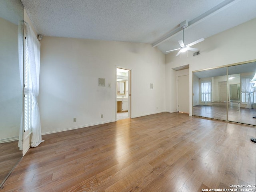
[[[26,132],[32,127],[32,83],[28,70],[28,43],[26,37],[24,39],[24,47],[24,132]]]

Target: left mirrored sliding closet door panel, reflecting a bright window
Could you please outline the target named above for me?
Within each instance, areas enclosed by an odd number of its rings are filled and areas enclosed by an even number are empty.
[[[193,115],[227,120],[226,67],[193,73]]]

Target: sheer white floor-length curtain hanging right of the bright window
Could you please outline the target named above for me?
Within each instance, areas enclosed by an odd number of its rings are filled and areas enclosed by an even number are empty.
[[[38,146],[42,140],[41,123],[38,107],[39,73],[40,73],[40,42],[28,23],[24,22],[24,33],[28,44],[28,75],[32,81],[32,139],[31,146]]]

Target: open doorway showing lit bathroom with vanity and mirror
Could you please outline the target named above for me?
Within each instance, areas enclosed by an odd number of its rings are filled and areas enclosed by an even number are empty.
[[[130,118],[130,70],[116,67],[116,120]]]

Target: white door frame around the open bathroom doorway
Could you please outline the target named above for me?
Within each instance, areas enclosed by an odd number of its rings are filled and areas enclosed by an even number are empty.
[[[119,69],[125,69],[125,70],[128,70],[128,90],[129,90],[129,94],[128,94],[128,117],[131,118],[132,116],[132,110],[131,110],[131,103],[132,103],[132,100],[131,100],[131,94],[132,94],[132,81],[131,81],[131,76],[132,76],[132,69],[130,68],[125,68],[125,67],[122,67],[122,66],[117,66],[115,65],[115,121],[117,121],[117,103],[116,103],[116,92],[117,92],[117,81],[116,81],[116,69],[119,68]]]

